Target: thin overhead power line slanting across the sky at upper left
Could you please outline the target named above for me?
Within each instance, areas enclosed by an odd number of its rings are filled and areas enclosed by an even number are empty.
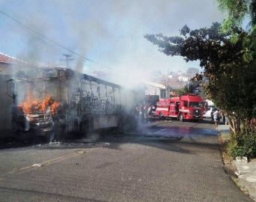
[[[35,30],[34,28],[31,28],[30,26],[25,25],[24,23],[20,22],[19,19],[13,18],[13,17],[10,16],[9,14],[5,13],[4,11],[0,10],[0,13],[3,14],[4,16],[7,16],[7,17],[10,18],[10,19],[12,19],[14,22],[18,23],[19,25],[22,25],[24,28],[27,28],[28,30],[30,30],[30,31],[32,31],[32,32],[34,32],[34,33],[36,33],[36,34],[38,34],[40,37],[43,37],[45,40],[49,40],[49,41],[50,41],[51,43],[53,43],[55,46],[61,47],[62,49],[66,49],[68,52],[71,52],[71,53],[73,53],[74,55],[78,55],[79,57],[85,58],[85,60],[90,61],[90,62],[92,62],[92,63],[94,63],[94,64],[98,64],[98,65],[100,65],[100,66],[102,66],[102,67],[106,67],[106,68],[109,68],[109,69],[113,70],[112,67],[107,67],[106,65],[100,64],[100,63],[98,63],[98,62],[96,62],[96,61],[93,61],[93,60],[91,60],[90,58],[85,57],[84,55],[80,55],[79,53],[74,52],[74,51],[71,50],[71,49],[68,49],[67,47],[61,45],[61,43],[55,42],[55,40],[52,40],[51,38],[46,37],[46,35],[41,34],[40,31],[37,31],[37,30]]]

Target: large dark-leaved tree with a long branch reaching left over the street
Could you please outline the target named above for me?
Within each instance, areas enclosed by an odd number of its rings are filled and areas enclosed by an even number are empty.
[[[231,33],[220,32],[221,25],[214,22],[210,28],[190,30],[184,26],[180,36],[146,34],[165,55],[183,56],[186,61],[200,61],[207,84],[204,90],[231,120],[234,132],[255,130],[251,120],[256,114],[255,49],[248,44],[255,42],[252,34],[235,29],[237,40]]]

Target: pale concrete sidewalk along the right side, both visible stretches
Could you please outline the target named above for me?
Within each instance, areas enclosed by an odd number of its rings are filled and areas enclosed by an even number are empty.
[[[229,126],[219,125],[216,128],[221,135],[229,134]],[[234,168],[236,170],[237,179],[239,181],[239,186],[245,188],[250,197],[256,201],[256,159],[251,159],[250,161],[247,158],[241,159],[237,157],[233,161]]]

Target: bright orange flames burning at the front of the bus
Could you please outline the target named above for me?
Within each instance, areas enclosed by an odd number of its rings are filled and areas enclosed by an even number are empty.
[[[41,111],[42,113],[46,113],[47,110],[49,110],[52,114],[55,114],[59,105],[60,102],[53,100],[51,96],[46,96],[42,101],[28,96],[25,102],[21,104],[21,108],[24,114],[32,114],[33,111]]]

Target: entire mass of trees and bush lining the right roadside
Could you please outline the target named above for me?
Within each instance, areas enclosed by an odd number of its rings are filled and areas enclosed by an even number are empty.
[[[228,13],[220,24],[191,30],[187,25],[180,36],[146,34],[144,37],[165,55],[200,61],[207,98],[225,112],[231,126],[228,153],[256,157],[256,1],[218,0]],[[249,20],[246,30],[244,19]]]

